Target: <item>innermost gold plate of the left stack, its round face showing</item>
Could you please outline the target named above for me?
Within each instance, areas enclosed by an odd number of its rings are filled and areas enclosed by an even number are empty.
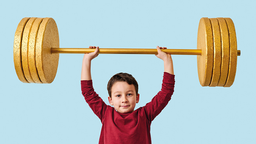
[[[36,68],[42,83],[51,83],[57,73],[59,54],[51,54],[51,48],[59,48],[59,33],[52,18],[44,18],[36,38]]]

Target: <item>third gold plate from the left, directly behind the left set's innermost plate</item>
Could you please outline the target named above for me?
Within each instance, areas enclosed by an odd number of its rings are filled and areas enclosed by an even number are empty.
[[[42,22],[43,18],[36,18],[34,21],[30,36],[29,36],[29,53],[28,53],[28,60],[29,60],[29,70],[31,73],[31,77],[35,83],[42,83],[36,69],[36,36],[39,29],[39,25]]]

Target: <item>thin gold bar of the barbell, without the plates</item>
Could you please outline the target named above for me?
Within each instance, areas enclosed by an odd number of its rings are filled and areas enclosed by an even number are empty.
[[[85,54],[94,52],[89,48],[52,48],[52,54]],[[162,49],[166,54],[174,55],[201,55],[200,49]],[[240,56],[240,50],[237,50]],[[98,54],[157,54],[157,49],[121,49],[121,48],[100,48]]]

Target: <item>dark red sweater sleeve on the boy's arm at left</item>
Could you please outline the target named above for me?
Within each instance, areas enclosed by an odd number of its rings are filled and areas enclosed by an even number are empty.
[[[94,91],[92,80],[81,81],[81,90],[83,96],[85,97],[85,101],[89,104],[90,108],[97,115],[97,117],[101,119],[101,122],[103,122],[107,105]]]

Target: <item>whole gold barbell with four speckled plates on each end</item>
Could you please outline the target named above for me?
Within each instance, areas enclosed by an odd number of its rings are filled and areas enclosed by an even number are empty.
[[[167,54],[197,55],[202,86],[233,84],[236,75],[236,31],[231,18],[201,18],[197,49],[162,49]],[[89,48],[59,48],[57,24],[52,18],[23,18],[15,32],[14,67],[23,83],[52,83],[60,53],[83,54]],[[99,54],[157,54],[157,49],[99,49]]]

